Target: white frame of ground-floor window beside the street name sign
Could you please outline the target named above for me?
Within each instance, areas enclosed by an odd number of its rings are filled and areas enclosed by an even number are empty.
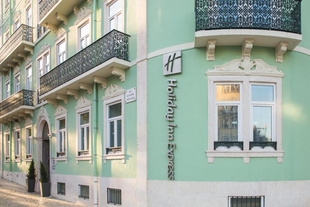
[[[117,103],[122,103],[122,152],[121,153],[113,153],[113,154],[107,154],[106,153],[106,148],[109,148],[109,118],[108,118],[108,110],[109,106],[117,104]],[[115,97],[110,97],[110,98],[103,98],[103,128],[104,128],[104,163],[106,163],[106,160],[112,160],[112,159],[122,159],[122,163],[125,163],[125,96],[124,92],[121,93],[120,95],[117,95]]]

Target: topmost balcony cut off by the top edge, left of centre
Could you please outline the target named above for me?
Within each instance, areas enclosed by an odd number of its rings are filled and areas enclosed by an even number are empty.
[[[67,24],[67,16],[74,6],[80,5],[84,0],[41,0],[39,2],[39,25],[57,26],[60,20]],[[87,0],[91,3],[92,0]]]

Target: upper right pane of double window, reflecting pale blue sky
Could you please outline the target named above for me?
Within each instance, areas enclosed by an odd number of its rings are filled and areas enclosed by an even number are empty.
[[[252,101],[273,102],[273,86],[252,85],[251,97]]]

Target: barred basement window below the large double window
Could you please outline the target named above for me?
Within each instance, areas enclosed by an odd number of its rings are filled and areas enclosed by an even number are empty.
[[[228,207],[264,207],[264,196],[229,196]]]

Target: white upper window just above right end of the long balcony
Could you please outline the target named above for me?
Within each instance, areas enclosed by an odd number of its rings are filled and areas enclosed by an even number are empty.
[[[117,0],[109,6],[109,31],[122,31],[122,1]]]

